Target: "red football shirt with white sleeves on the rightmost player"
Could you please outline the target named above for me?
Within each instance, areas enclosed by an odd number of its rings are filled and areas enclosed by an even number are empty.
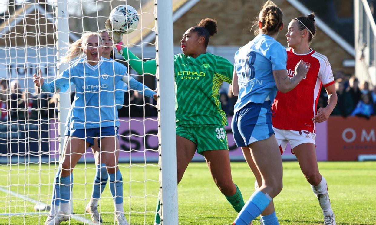
[[[334,84],[332,68],[325,55],[311,49],[308,54],[295,54],[287,48],[287,74],[294,77],[296,64],[303,60],[309,70],[306,77],[290,92],[277,92],[272,110],[273,126],[283,130],[307,130],[315,133],[312,118],[316,115],[321,85]]]

